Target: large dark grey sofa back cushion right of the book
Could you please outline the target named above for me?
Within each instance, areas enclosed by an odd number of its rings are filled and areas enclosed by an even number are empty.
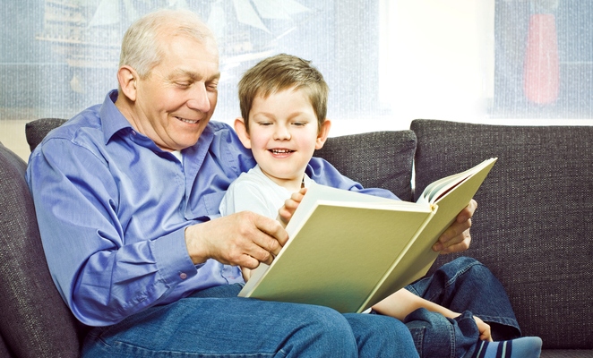
[[[472,243],[462,254],[501,280],[524,335],[546,348],[593,348],[593,127],[417,120],[411,128],[416,196],[498,157],[476,194]]]

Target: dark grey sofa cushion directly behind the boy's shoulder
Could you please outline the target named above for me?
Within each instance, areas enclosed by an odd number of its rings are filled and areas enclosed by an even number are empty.
[[[411,200],[415,151],[412,131],[367,132],[328,138],[315,156],[367,188],[388,189],[401,200]]]

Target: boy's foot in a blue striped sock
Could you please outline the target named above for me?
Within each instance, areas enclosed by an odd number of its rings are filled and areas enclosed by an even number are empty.
[[[500,342],[481,341],[472,358],[539,358],[541,351],[540,337],[520,337]]]

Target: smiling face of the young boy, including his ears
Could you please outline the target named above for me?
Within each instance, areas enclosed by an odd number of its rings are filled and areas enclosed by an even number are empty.
[[[268,98],[257,96],[249,112],[249,132],[243,118],[235,129],[246,148],[252,149],[262,172],[274,183],[295,191],[315,149],[321,149],[330,121],[318,131],[317,116],[302,90],[282,90]]]

